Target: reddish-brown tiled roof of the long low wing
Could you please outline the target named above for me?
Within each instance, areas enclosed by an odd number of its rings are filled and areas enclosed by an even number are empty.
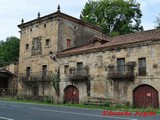
[[[110,48],[114,46],[133,44],[138,42],[146,42],[146,41],[154,41],[160,40],[160,29],[153,29],[143,32],[130,33],[126,35],[120,35],[116,37],[109,38],[110,42],[105,44],[94,46],[94,44],[88,44],[85,46],[73,48],[70,50],[65,50],[58,53],[58,56],[75,54],[75,53],[83,53],[85,51],[94,50],[94,49],[102,49],[102,48]]]

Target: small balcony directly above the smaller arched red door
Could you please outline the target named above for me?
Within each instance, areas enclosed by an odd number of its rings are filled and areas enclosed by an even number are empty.
[[[88,69],[72,69],[69,74],[70,80],[86,80],[88,79]]]

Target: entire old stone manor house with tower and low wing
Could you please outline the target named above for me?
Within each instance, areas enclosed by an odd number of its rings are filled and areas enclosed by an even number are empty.
[[[159,107],[160,29],[108,37],[60,8],[22,20],[18,27],[18,95],[74,103],[97,97]],[[55,75],[59,91],[53,87]]]

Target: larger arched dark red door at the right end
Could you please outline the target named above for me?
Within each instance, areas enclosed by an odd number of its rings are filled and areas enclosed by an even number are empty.
[[[133,104],[136,107],[159,107],[158,91],[150,85],[140,85],[133,90]]]

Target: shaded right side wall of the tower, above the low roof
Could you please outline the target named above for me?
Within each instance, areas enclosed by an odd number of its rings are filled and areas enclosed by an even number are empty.
[[[59,50],[69,48],[67,47],[67,39],[71,40],[71,48],[88,44],[94,35],[102,36],[100,31],[63,18],[59,18],[59,22]]]

